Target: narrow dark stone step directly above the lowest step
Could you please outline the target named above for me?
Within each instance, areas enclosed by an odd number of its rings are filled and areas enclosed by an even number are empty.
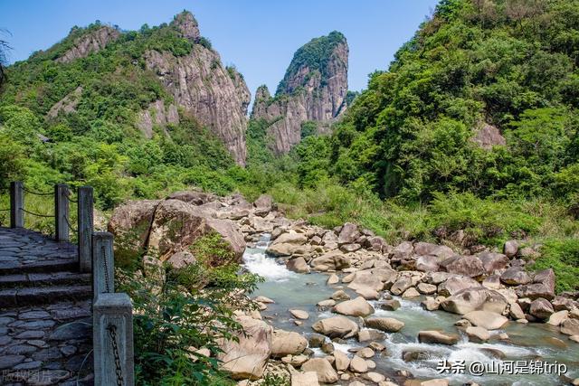
[[[0,276],[0,288],[90,285],[90,273],[71,271],[49,273],[18,273]]]

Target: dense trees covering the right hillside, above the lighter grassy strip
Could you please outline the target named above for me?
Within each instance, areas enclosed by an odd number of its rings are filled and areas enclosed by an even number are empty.
[[[350,108],[333,173],[408,202],[453,189],[576,201],[562,176],[577,167],[578,5],[442,1]],[[507,145],[476,144],[485,125]]]

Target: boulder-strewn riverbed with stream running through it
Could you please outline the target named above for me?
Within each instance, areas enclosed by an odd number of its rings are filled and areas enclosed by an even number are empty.
[[[272,372],[292,386],[538,385],[579,376],[577,294],[555,295],[551,269],[526,269],[540,247],[524,240],[502,250],[419,240],[391,246],[352,223],[325,230],[289,220],[268,196],[251,203],[199,192],[129,202],[109,230],[119,238],[130,230],[133,245],[176,268],[195,259],[188,246],[196,237],[215,231],[245,268],[266,278],[253,294],[260,312],[237,313],[250,334],[227,346],[236,356],[223,363],[244,384]],[[438,372],[444,359],[556,361],[567,372],[516,379]]]

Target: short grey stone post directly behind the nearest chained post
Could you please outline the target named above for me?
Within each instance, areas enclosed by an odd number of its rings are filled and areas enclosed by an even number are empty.
[[[94,232],[92,234],[92,299],[100,294],[115,292],[114,255],[112,233]],[[98,383],[96,383],[98,384]]]

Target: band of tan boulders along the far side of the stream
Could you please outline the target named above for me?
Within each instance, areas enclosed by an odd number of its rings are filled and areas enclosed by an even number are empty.
[[[503,253],[481,250],[475,255],[459,254],[444,245],[427,242],[403,243],[392,247],[372,231],[346,223],[334,230],[299,224],[274,229],[268,251],[287,257],[289,269],[334,272],[328,278],[337,283],[337,272],[346,274],[341,282],[360,295],[360,300],[425,297],[422,306],[430,311],[464,315],[472,325],[498,329],[509,319],[517,323],[548,323],[562,334],[579,340],[577,294],[555,296],[553,269],[528,272],[528,257],[535,249],[519,248],[516,240],[505,243]],[[526,258],[526,259],[523,259]],[[356,306],[355,306],[356,303]],[[396,301],[384,299],[392,309]],[[326,302],[325,306],[331,306]],[[368,308],[356,299],[336,306],[340,314],[355,315]],[[484,315],[490,321],[480,321]]]

